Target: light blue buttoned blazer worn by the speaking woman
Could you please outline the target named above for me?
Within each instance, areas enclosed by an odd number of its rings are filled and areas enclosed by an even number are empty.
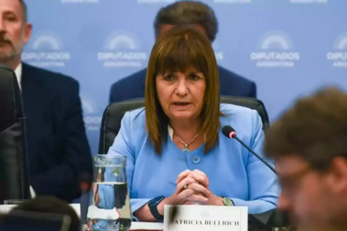
[[[145,109],[124,115],[108,154],[127,157],[126,174],[133,213],[154,197],[170,196],[176,189],[178,174],[186,169],[203,171],[209,178],[212,193],[231,198],[235,206],[247,206],[250,214],[277,207],[277,176],[240,143],[225,137],[221,129],[225,125],[234,127],[238,137],[263,156],[264,133],[259,114],[231,104],[221,104],[220,110],[226,116],[220,117],[219,143],[207,154],[203,153],[204,145],[183,152],[168,136],[162,155],[158,156],[145,130]],[[273,165],[273,161],[268,161]],[[107,197],[113,197],[112,190],[99,189],[99,206],[110,207],[112,203],[108,203]]]

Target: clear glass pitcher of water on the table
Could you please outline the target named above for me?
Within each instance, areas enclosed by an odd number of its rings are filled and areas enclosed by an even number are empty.
[[[87,214],[88,228],[92,231],[127,231],[131,225],[132,213],[125,177],[125,161],[117,164],[114,163],[114,158],[110,160],[110,156],[97,156],[99,159],[94,160],[92,204],[88,207]],[[108,160],[100,163],[100,158]]]

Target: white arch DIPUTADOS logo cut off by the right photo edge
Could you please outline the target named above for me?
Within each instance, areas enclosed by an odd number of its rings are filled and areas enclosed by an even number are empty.
[[[338,35],[333,42],[333,50],[327,53],[327,59],[334,67],[347,68],[347,31]]]

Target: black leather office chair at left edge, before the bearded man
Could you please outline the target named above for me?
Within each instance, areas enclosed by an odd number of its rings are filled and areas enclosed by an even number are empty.
[[[0,204],[29,199],[25,117],[13,69],[0,64]]]

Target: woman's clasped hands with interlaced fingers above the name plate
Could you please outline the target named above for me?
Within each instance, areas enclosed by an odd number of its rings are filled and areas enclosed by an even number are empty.
[[[176,190],[171,195],[171,204],[178,205],[223,205],[222,198],[209,190],[209,179],[198,169],[181,172],[176,180]]]

